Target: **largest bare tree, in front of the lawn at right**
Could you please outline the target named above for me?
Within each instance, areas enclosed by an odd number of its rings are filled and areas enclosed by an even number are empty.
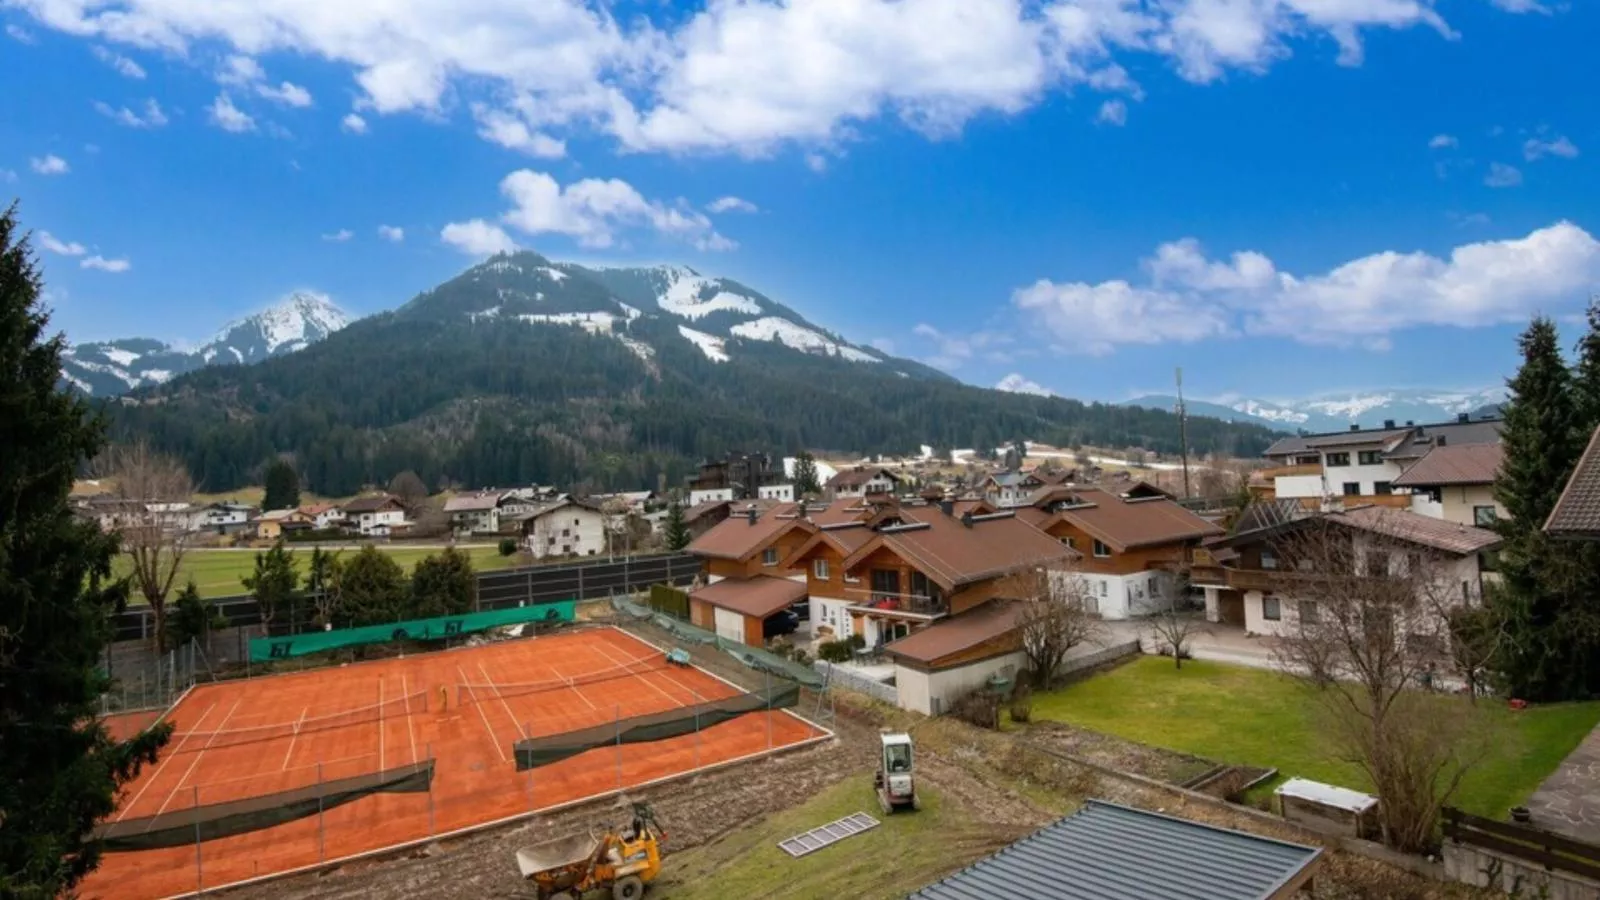
[[[1331,745],[1371,780],[1384,841],[1421,852],[1491,735],[1474,708],[1419,690],[1450,665],[1445,610],[1472,597],[1445,556],[1400,540],[1398,527],[1357,530],[1326,517],[1275,541],[1296,618],[1277,657],[1317,689]]]

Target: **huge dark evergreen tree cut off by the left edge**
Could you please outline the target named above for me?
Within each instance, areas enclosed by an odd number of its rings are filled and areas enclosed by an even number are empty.
[[[99,863],[94,825],[171,725],[115,741],[99,721],[126,583],[112,580],[117,540],[74,517],[67,496],[104,429],[56,389],[64,343],[43,338],[40,274],[14,213],[0,213],[0,897],[48,900]]]

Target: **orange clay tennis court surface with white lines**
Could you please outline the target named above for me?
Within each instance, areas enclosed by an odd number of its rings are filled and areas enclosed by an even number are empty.
[[[586,681],[594,679],[594,681]],[[434,759],[427,793],[181,847],[106,854],[82,895],[160,898],[317,866],[794,748],[829,732],[758,709],[694,733],[606,745],[518,772],[514,743],[744,693],[621,629],[595,628],[331,669],[219,682],[166,716],[171,743],[118,820],[261,798]],[[506,860],[514,866],[514,860]]]

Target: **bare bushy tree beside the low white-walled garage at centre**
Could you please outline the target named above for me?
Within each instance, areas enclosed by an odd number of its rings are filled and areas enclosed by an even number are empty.
[[[1099,617],[1090,612],[1088,583],[1067,567],[1010,575],[1002,583],[1000,596],[1022,604],[1018,631],[1035,687],[1048,689],[1067,653],[1080,644],[1099,641],[1104,631]]]

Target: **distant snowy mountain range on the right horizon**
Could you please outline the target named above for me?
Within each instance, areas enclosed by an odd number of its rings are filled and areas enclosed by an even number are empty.
[[[1486,407],[1506,400],[1502,388],[1475,391],[1360,391],[1320,394],[1298,400],[1258,400],[1250,397],[1218,397],[1186,400],[1190,415],[1266,424],[1278,431],[1342,431],[1352,424],[1378,428],[1386,421],[1437,423],[1461,413],[1480,415]],[[1150,394],[1125,400],[1123,405],[1171,410],[1176,397]]]

